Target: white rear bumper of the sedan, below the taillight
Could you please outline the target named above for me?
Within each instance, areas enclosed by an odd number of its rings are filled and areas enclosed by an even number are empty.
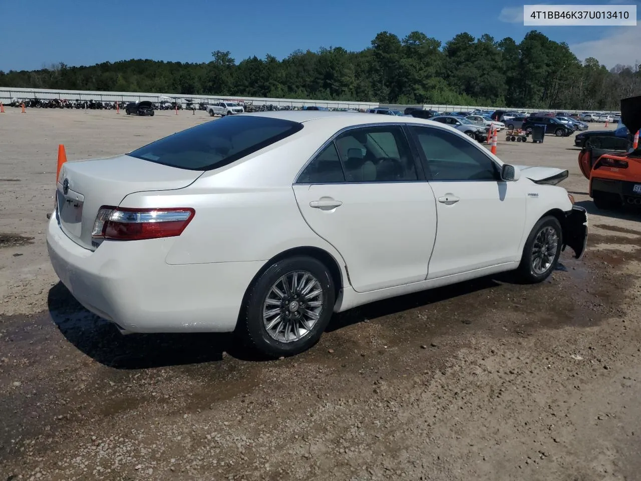
[[[128,332],[231,332],[249,283],[264,264],[165,263],[173,239],[108,242],[90,251],[49,219],[54,271],[85,308]]]

